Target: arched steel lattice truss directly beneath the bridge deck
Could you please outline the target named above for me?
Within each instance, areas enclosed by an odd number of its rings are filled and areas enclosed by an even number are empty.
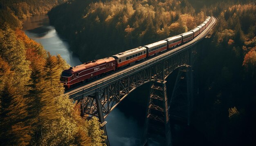
[[[196,54],[195,50],[196,47],[177,54],[172,58],[162,60],[162,62],[159,62],[158,64],[154,64],[148,68],[131,73],[127,77],[121,77],[119,80],[115,80],[111,82],[111,84],[108,84],[108,86],[97,88],[97,91],[90,93],[90,95],[81,93],[79,101],[82,103],[84,115],[87,115],[88,117],[99,117],[98,109],[100,109],[105,118],[130,92],[134,91],[138,86],[150,81],[165,80],[175,69],[181,66],[190,66],[190,60],[192,60]],[[101,108],[98,108],[97,106],[97,92],[100,93],[99,99]]]

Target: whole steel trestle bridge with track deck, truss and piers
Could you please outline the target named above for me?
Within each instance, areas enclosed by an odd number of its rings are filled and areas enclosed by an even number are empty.
[[[81,110],[88,117],[98,117],[103,124],[102,128],[107,135],[104,118],[138,86],[152,82],[150,96],[148,97],[148,119],[164,123],[166,144],[172,145],[169,116],[185,118],[190,124],[191,111],[193,108],[193,71],[192,66],[198,54],[196,44],[204,39],[216,24],[216,18],[212,17],[209,26],[196,38],[168,50],[150,59],[138,62],[132,66],[114,73],[99,77],[85,85],[72,88],[65,92],[71,99],[81,103]],[[175,69],[179,73],[175,82],[172,96],[167,100],[165,79]],[[185,79],[186,94],[183,100],[179,94],[180,83]],[[179,98],[180,99],[179,99]],[[185,111],[185,112],[184,112]],[[147,129],[147,128],[146,128]],[[144,137],[146,137],[146,132]],[[146,143],[143,143],[143,145]],[[109,145],[108,138],[106,144]]]

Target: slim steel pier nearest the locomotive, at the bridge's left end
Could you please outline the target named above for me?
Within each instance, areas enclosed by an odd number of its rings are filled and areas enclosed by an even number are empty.
[[[101,110],[102,109],[102,107],[101,107],[101,92],[99,89],[97,89],[95,97],[96,97],[96,104],[97,104],[97,109],[98,109],[97,111],[98,111],[98,115],[99,115],[99,122],[101,124],[103,124],[105,120],[104,120],[104,116],[103,116],[103,111]],[[109,141],[108,141],[108,134],[107,134],[107,129],[106,129],[105,123],[101,127],[101,129],[104,131],[104,135],[106,136],[106,139],[105,139],[106,145],[110,146]]]

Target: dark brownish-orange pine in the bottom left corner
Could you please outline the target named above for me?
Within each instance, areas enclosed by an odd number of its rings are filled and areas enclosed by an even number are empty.
[[[27,105],[12,86],[13,73],[8,80],[2,82],[4,88],[0,94],[0,141],[3,145],[27,145],[31,139],[30,125],[27,124]]]

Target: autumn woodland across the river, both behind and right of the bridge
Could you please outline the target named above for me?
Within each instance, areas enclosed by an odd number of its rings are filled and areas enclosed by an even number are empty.
[[[229,0],[72,0],[49,12],[72,50],[88,61],[188,31],[214,15],[195,66],[193,126],[213,145],[255,145],[256,6]]]

